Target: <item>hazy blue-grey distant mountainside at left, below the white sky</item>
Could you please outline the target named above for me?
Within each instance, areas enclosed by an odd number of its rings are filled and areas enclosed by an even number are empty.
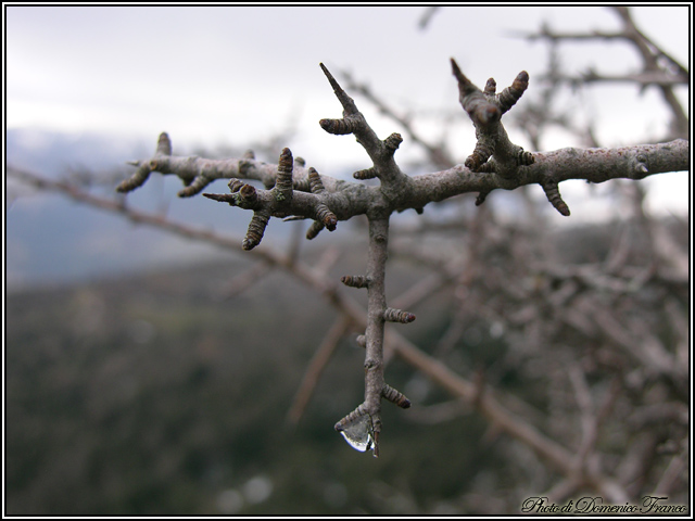
[[[7,163],[49,179],[79,180],[94,176],[91,192],[115,198],[116,183],[132,168],[125,162],[147,157],[153,143],[102,135],[64,135],[37,129],[9,129]],[[190,153],[181,150],[179,153]],[[128,195],[135,208],[169,216],[174,220],[243,237],[248,216],[241,211],[211,204],[203,198],[181,201],[181,183],[153,175]],[[211,190],[226,192],[218,181]],[[218,251],[147,227],[134,229],[123,217],[88,207],[64,195],[39,193],[8,179],[7,283],[11,291],[91,280],[94,278],[222,258]],[[268,234],[281,241],[277,226]]]

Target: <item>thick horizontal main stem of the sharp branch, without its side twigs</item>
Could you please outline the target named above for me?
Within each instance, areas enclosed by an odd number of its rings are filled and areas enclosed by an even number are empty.
[[[567,148],[552,152],[534,153],[532,165],[519,167],[517,177],[504,178],[496,174],[476,173],[464,165],[456,165],[446,170],[407,177],[403,185],[389,183],[393,187],[384,198],[382,187],[366,187],[356,182],[339,181],[330,176],[321,175],[325,187],[321,193],[312,194],[308,190],[308,169],[294,166],[293,183],[301,186],[305,179],[306,192],[294,189],[295,195],[281,209],[274,209],[276,216],[298,215],[315,218],[319,204],[324,204],[336,215],[338,220],[348,220],[356,215],[366,215],[378,207],[383,213],[403,212],[422,208],[427,204],[443,201],[455,195],[469,192],[490,193],[493,190],[514,190],[527,185],[547,186],[549,182],[563,182],[569,179],[583,179],[599,183],[610,179],[644,179],[656,174],[684,171],[690,167],[690,141],[677,139],[668,143],[641,144],[616,149],[577,149]],[[156,165],[151,171],[174,174],[190,177],[191,165],[215,169],[219,178],[239,178],[262,180],[266,186],[275,186],[277,165],[256,162],[255,160],[201,160],[199,157],[169,156],[162,163],[155,155],[143,161],[141,165]],[[241,165],[241,166],[240,166]],[[397,168],[397,167],[396,167]],[[141,175],[136,173],[124,181],[118,191],[130,191],[137,188]],[[148,173],[149,175],[149,173]],[[403,175],[404,176],[404,175]],[[400,176],[399,176],[400,177]],[[254,189],[255,190],[255,189]],[[258,194],[268,190],[257,190]],[[229,196],[225,196],[229,198]],[[269,195],[258,195],[269,201]],[[244,207],[239,196],[217,199],[231,205]],[[275,215],[274,214],[274,215]]]

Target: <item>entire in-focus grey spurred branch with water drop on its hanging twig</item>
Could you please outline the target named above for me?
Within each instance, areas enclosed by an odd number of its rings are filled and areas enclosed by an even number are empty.
[[[688,142],[684,140],[622,149],[563,149],[535,154],[525,152],[509,141],[500,119],[528,88],[528,74],[520,73],[510,87],[496,93],[494,79],[489,79],[484,91],[481,91],[463,74],[454,60],[451,63],[458,81],[459,101],[473,122],[478,139],[473,153],[464,166],[413,178],[405,175],[394,160],[403,141],[401,136],[392,134],[380,140],[354,100],[320,64],[343,107],[343,116],[321,119],[319,124],[329,134],[355,136],[371,160],[371,165],[355,173],[355,178],[377,178],[380,181],[378,186],[337,181],[330,176],[319,175],[314,168],[304,169],[303,163],[294,163],[292,153],[287,148],[280,154],[277,166],[256,162],[251,155],[224,161],[177,157],[172,155],[170,141],[163,134],[154,156],[138,163],[134,176],[118,187],[119,191],[130,191],[142,185],[151,171],[156,170],[179,176],[188,186],[180,195],[189,196],[202,190],[213,179],[230,178],[230,193],[204,195],[253,212],[242,242],[244,250],[251,250],[261,243],[271,217],[314,220],[315,224],[307,233],[307,238],[312,239],[324,227],[331,231],[336,229],[339,220],[348,220],[356,215],[367,216],[369,249],[366,275],[343,279],[349,285],[366,288],[368,292],[365,401],[339,421],[336,429],[344,432],[353,428],[365,430],[358,434],[359,442],[355,442],[356,446],[361,449],[372,448],[375,456],[379,455],[381,398],[396,396],[397,398],[393,398],[396,403],[409,405],[406,398],[400,398],[402,395],[396,391],[388,391],[391,387],[386,384],[383,373],[386,321],[407,323],[415,319],[408,312],[390,308],[386,301],[389,218],[393,212],[408,208],[420,211],[430,202],[472,191],[480,193],[477,202],[480,204],[495,189],[513,190],[538,183],[545,190],[553,206],[563,215],[569,215],[569,208],[559,195],[558,185],[561,181],[585,179],[604,182],[621,177],[642,179],[658,173],[684,170],[688,166]],[[256,189],[241,179],[258,180],[265,188]],[[505,289],[509,290],[513,288]],[[604,327],[614,329],[605,326],[605,322]],[[648,355],[648,360],[654,361],[654,353]],[[667,369],[662,368],[665,371]],[[548,453],[546,445],[541,449],[543,444],[536,441],[538,435],[528,428],[517,430],[516,421],[501,419],[504,415],[496,412],[496,406],[492,405],[488,395],[477,397],[477,393],[471,390],[467,390],[465,394],[469,399],[480,402],[481,410],[495,417],[495,421],[502,423],[503,428],[514,431],[536,450],[543,450],[555,466],[567,471],[568,463],[560,463],[564,456],[559,448]],[[367,421],[363,421],[365,417],[368,417]]]

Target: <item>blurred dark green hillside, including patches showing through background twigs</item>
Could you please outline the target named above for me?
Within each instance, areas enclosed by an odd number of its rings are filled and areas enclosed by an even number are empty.
[[[578,263],[601,260],[610,243],[604,231],[572,230],[553,250]],[[346,247],[332,279],[361,272],[362,251]],[[488,269],[517,269],[504,242],[485,258]],[[395,254],[390,266],[388,288],[396,295],[424,270]],[[288,424],[336,314],[280,272],[220,300],[248,267],[230,259],[7,297],[7,514],[514,512],[525,494],[556,482],[552,473],[538,479],[532,453],[470,409],[450,415],[451,397],[399,359],[387,374],[413,408],[384,407],[378,459],[350,448],[332,427],[364,392],[364,352],[354,335],[338,346],[299,425]],[[548,394],[549,369],[538,369],[552,351],[525,363],[508,336],[480,318],[441,351],[457,313],[452,290],[413,309],[412,325],[394,327],[469,379],[484,369],[494,389],[532,406],[516,412],[544,431],[577,431],[571,386],[561,379]],[[656,314],[662,292],[647,287],[639,297]],[[599,345],[580,353],[591,357]],[[601,390],[617,370],[587,378]],[[567,405],[558,402],[565,394]],[[540,419],[558,407],[553,418],[563,421]],[[631,407],[620,402],[603,431],[615,430],[602,439],[610,457],[643,434],[622,429]]]

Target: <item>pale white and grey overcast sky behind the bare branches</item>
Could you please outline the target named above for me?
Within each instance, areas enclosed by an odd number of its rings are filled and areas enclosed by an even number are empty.
[[[296,135],[287,145],[319,171],[364,155],[353,139],[318,126],[342,111],[319,62],[339,80],[341,69],[351,72],[395,106],[457,110],[450,56],[480,87],[492,76],[502,89],[526,69],[529,96],[546,65],[547,46],[513,38],[513,31],[534,30],[543,22],[557,30],[620,27],[608,9],[589,7],[445,7],[427,30],[418,27],[427,9],[421,7],[5,9],[8,128],[141,136],[153,148],[166,130],[176,153],[177,143],[243,145],[292,122]],[[686,65],[690,16],[687,7],[633,9],[644,31]],[[635,72],[640,64],[618,42],[568,43],[561,56],[574,74],[590,65],[606,74]],[[688,110],[687,89],[680,96]],[[380,137],[401,131],[355,99]],[[634,87],[602,87],[578,100],[606,145],[650,141],[668,122],[654,88],[639,96]],[[460,161],[475,143],[472,126],[469,134],[457,151]],[[579,144],[567,139],[545,144]],[[686,207],[687,198],[681,199]]]

